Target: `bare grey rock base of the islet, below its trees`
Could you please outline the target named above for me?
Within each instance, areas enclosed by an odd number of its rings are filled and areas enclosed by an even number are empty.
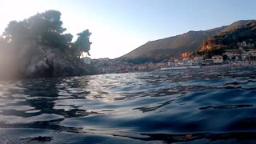
[[[86,65],[58,49],[38,46],[33,52],[22,50],[15,58],[1,57],[0,78],[43,78],[97,74],[94,66]],[[33,53],[33,54],[32,54]]]

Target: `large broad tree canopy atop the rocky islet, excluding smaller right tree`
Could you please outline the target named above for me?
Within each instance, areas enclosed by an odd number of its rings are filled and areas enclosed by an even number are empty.
[[[11,21],[2,36],[17,46],[33,41],[39,45],[65,49],[70,47],[73,36],[62,34],[64,31],[66,28],[62,27],[61,13],[47,10],[20,22]]]

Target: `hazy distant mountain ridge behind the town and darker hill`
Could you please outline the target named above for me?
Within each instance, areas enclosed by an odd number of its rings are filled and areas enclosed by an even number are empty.
[[[204,39],[211,38],[211,36],[217,34],[224,34],[251,21],[238,21],[230,26],[222,26],[211,30],[189,31],[174,37],[146,42],[144,45],[117,59],[133,63],[144,63],[150,61],[158,62],[170,57],[178,58],[182,53],[198,50],[202,46]]]

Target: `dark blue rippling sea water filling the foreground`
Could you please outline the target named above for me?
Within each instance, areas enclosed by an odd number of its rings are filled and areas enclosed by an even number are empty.
[[[1,81],[3,142],[256,142],[256,67]]]

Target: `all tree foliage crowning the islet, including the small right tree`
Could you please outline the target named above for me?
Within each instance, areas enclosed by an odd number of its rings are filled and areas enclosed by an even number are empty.
[[[66,28],[62,26],[61,15],[57,10],[47,10],[20,22],[11,21],[2,34],[2,39],[8,42],[9,46],[6,47],[14,50],[19,50],[22,46],[36,48],[41,45],[57,48],[78,58],[83,52],[89,53],[89,30],[78,33],[78,39],[72,42],[72,34],[63,34]]]

